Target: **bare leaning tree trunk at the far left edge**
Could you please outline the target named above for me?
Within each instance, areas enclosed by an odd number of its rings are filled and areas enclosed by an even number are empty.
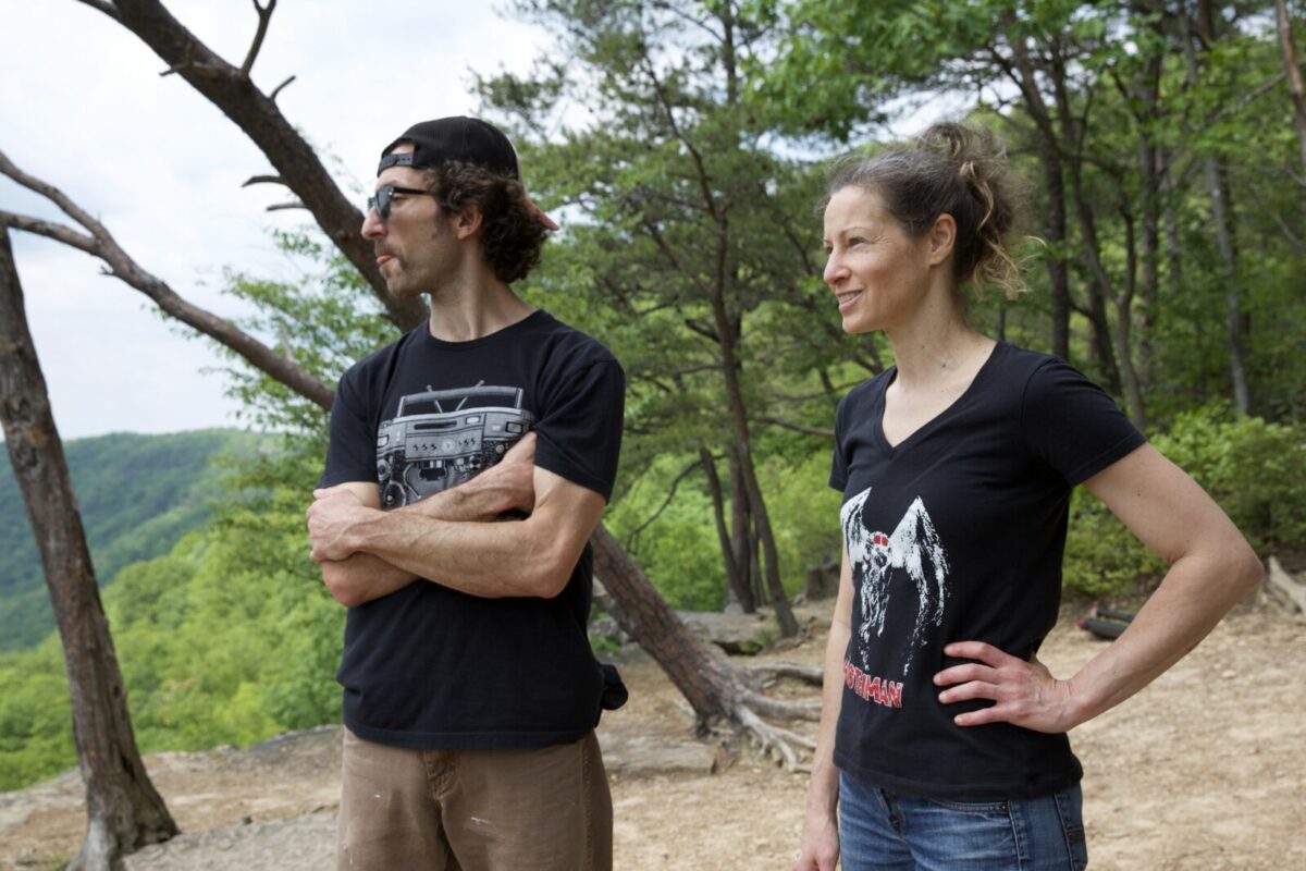
[[[68,867],[107,871],[121,867],[124,854],[166,841],[178,828],[136,748],[123,675],[3,229],[0,419],[64,645],[73,740],[86,784],[86,838]]]

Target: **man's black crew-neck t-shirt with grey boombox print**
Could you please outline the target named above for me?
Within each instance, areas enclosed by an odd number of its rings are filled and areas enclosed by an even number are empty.
[[[537,311],[469,342],[427,325],[340,381],[321,486],[366,481],[396,508],[488,467],[526,431],[535,465],[609,499],[624,376],[593,338]],[[413,748],[543,747],[598,722],[585,632],[589,546],[555,598],[481,598],[431,581],[349,610],[337,679],[360,738]]]

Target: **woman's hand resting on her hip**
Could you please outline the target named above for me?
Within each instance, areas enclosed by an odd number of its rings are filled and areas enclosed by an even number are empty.
[[[934,683],[948,687],[939,701],[952,704],[991,699],[993,705],[957,714],[959,726],[1008,722],[1042,733],[1064,733],[1077,726],[1074,692],[1068,680],[1053,676],[1037,657],[1028,662],[982,641],[956,641],[943,648],[949,657],[976,659],[944,669]]]

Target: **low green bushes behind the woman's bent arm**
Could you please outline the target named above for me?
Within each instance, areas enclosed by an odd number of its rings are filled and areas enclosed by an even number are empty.
[[[1237,418],[1222,404],[1181,414],[1152,439],[1224,508],[1258,552],[1306,548],[1306,432]],[[1071,500],[1064,584],[1102,595],[1138,592],[1165,563],[1083,487]]]

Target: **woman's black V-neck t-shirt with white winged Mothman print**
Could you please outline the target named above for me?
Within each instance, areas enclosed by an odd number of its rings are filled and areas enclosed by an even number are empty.
[[[840,404],[831,486],[853,567],[852,637],[835,761],[932,799],[1030,798],[1083,774],[1066,735],[952,718],[934,675],[953,641],[1029,658],[1057,623],[1070,494],[1143,444],[1111,398],[1064,362],[999,342],[966,392],[889,447],[896,370]]]

